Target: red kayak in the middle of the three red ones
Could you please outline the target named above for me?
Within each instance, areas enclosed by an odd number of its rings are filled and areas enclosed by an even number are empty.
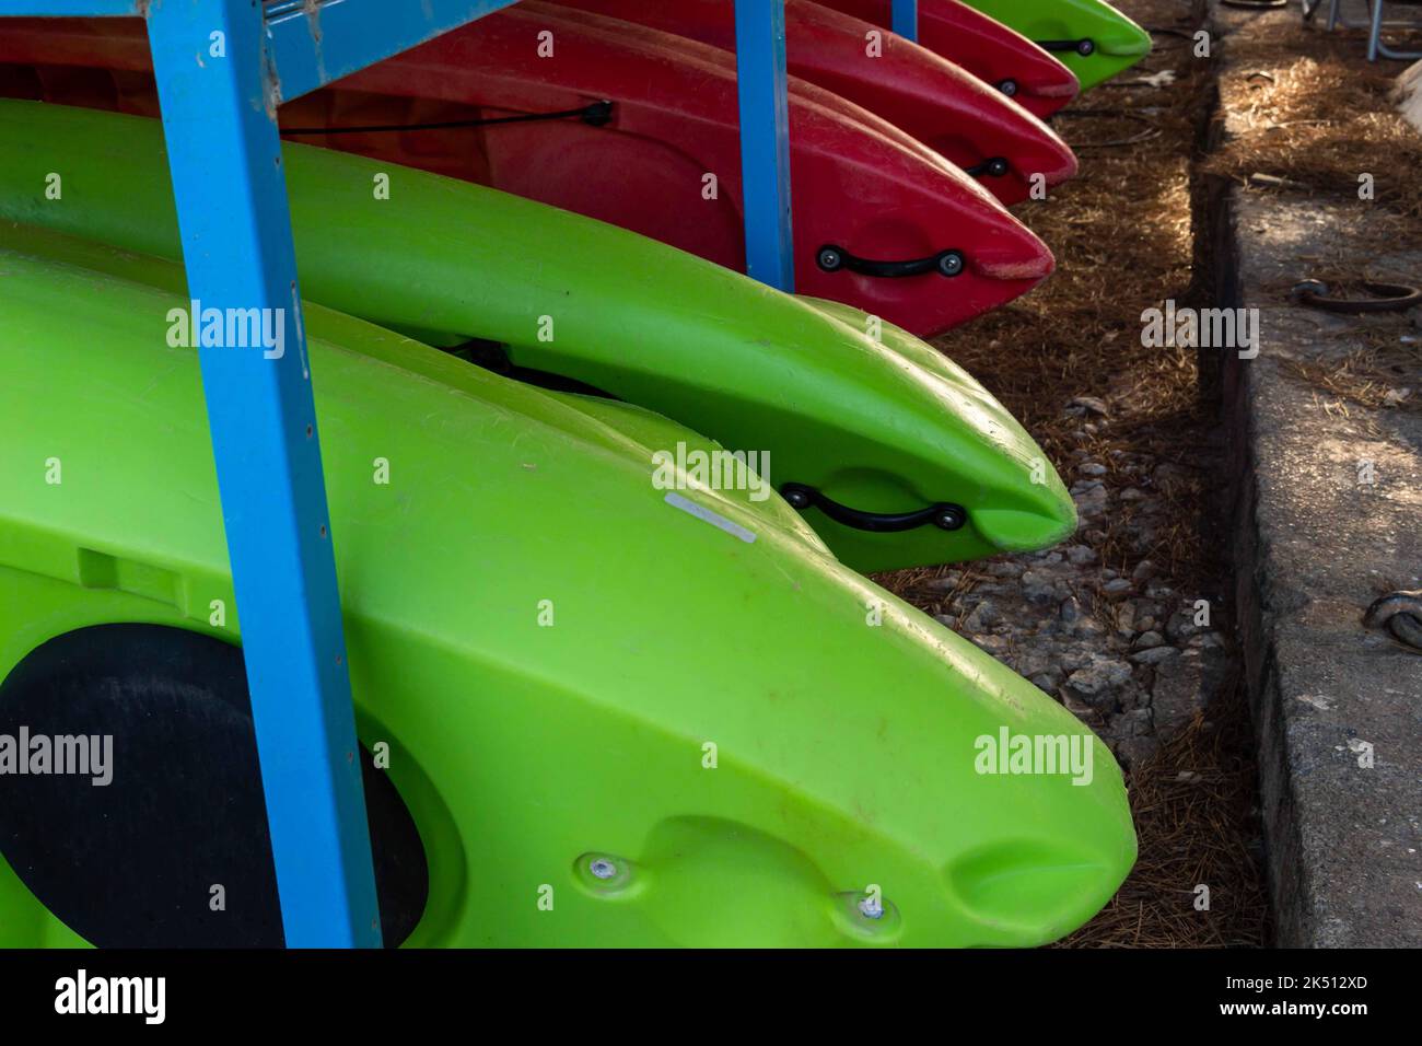
[[[594,14],[735,50],[735,6],[724,0],[559,0]],[[970,9],[971,10],[971,9]],[[1076,158],[1037,117],[958,65],[894,33],[811,0],[785,3],[791,74],[877,112],[941,152],[1007,205],[1028,196],[1032,175],[1045,188],[1076,174]]]

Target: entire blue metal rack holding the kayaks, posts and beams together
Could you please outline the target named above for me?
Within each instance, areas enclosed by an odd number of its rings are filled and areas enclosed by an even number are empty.
[[[729,1],[729,0],[728,0]],[[381,945],[276,111],[513,0],[0,0],[148,24],[189,296],[286,352],[199,349],[287,946]],[[785,0],[734,0],[748,270],[793,289]],[[893,0],[914,37],[917,0]]]

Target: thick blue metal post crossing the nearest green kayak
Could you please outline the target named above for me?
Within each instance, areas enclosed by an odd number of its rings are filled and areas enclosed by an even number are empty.
[[[220,337],[199,359],[286,944],[378,946],[262,6],[154,4],[148,33],[193,309],[257,309],[270,334],[256,347]],[[195,332],[202,319],[192,316]]]

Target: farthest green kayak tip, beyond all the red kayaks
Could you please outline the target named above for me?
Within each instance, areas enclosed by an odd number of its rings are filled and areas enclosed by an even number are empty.
[[[1045,47],[1076,74],[1081,90],[1150,54],[1150,34],[1105,0],[964,0]]]

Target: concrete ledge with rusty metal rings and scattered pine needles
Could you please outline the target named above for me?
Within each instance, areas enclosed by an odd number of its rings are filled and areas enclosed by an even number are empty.
[[[1216,11],[1226,141],[1244,132],[1230,93],[1256,68],[1250,41],[1284,19],[1298,11]],[[1261,324],[1258,356],[1221,364],[1276,944],[1422,946],[1422,650],[1364,623],[1379,595],[1422,588],[1422,369],[1406,340],[1422,310],[1337,316],[1290,297],[1372,239],[1368,201],[1233,184],[1213,218],[1220,303]],[[1422,285],[1422,236],[1404,246],[1358,252],[1358,276]],[[1358,359],[1365,394],[1348,387]]]

